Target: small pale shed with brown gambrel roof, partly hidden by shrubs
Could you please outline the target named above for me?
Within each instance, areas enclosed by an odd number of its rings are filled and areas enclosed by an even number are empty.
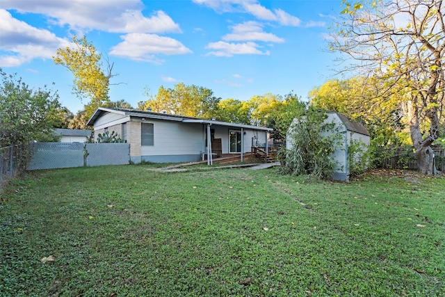
[[[353,120],[348,119],[345,115],[334,111],[326,112],[327,118],[325,118],[326,123],[334,123],[337,130],[335,132],[342,134],[342,143],[337,147],[337,150],[334,152],[332,158],[334,161],[337,161],[337,168],[334,169],[334,174],[332,175],[332,179],[348,181],[350,175],[350,166],[348,164],[348,147],[350,146],[351,141],[360,141],[366,147],[369,146],[371,141],[371,134],[369,134],[368,130],[359,122],[355,122]],[[293,123],[296,122],[297,119],[293,120]],[[292,129],[293,125],[289,127],[287,136],[286,136],[286,150],[291,150],[293,147],[291,137],[292,137]],[[357,158],[357,156],[354,156]]]

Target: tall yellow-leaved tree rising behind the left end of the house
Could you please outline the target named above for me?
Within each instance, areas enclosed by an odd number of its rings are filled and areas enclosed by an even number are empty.
[[[65,47],[57,49],[57,56],[53,57],[56,65],[63,65],[74,75],[72,90],[81,100],[89,99],[86,105],[86,118],[110,99],[108,91],[110,88],[110,79],[115,77],[113,74],[113,63],[106,60],[106,68],[102,63],[102,55],[92,43],[86,40],[86,37],[79,39],[74,35],[72,38],[74,48]]]

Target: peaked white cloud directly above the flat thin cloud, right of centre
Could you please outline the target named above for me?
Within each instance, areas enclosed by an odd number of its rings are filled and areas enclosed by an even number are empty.
[[[284,39],[277,37],[277,35],[264,32],[261,24],[259,24],[258,22],[244,22],[243,24],[232,26],[232,33],[224,35],[223,40],[258,40],[264,42],[284,42]]]

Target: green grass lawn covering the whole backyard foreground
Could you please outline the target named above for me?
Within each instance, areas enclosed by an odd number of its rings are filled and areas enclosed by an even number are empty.
[[[443,177],[153,167],[8,185],[0,296],[445,296]]]

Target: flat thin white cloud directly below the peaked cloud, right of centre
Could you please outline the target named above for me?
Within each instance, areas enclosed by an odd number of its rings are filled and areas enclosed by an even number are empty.
[[[259,45],[255,42],[244,43],[229,43],[224,41],[211,42],[207,45],[206,49],[213,49],[209,51],[207,56],[225,56],[231,57],[234,55],[269,55],[269,51],[260,51],[257,49]]]

